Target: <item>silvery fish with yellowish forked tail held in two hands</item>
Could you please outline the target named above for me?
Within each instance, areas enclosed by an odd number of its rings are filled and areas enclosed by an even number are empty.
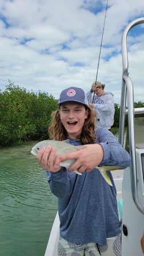
[[[74,151],[78,151],[79,149],[82,149],[82,148],[86,147],[86,145],[78,145],[78,146],[71,145],[71,144],[68,144],[68,141],[69,140],[63,140],[63,141],[42,140],[42,141],[39,141],[31,149],[31,154],[34,155],[34,156],[37,156],[38,152],[42,148],[46,148],[48,146],[51,146],[52,148],[56,149],[55,156],[57,156],[57,155],[62,156],[62,155],[65,155],[66,153],[71,153],[71,152],[74,152]],[[59,163],[59,166],[69,168],[75,162],[75,160],[76,159],[65,160],[65,161]],[[95,168],[97,168],[99,170],[99,172],[101,173],[103,178],[106,180],[106,182],[110,186],[113,186],[113,184],[111,183],[111,179],[110,179],[110,176],[107,174],[107,171],[114,171],[114,170],[123,169],[122,167],[119,167],[119,166],[101,166],[101,167],[96,166]],[[77,170],[75,170],[74,172],[78,175],[82,175]]]

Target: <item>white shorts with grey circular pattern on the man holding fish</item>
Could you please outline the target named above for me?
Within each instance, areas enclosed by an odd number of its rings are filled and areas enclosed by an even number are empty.
[[[106,239],[106,245],[75,244],[59,238],[58,256],[121,256],[121,234]]]

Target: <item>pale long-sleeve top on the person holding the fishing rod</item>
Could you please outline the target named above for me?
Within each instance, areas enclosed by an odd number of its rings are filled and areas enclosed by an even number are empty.
[[[113,93],[105,92],[101,96],[97,96],[90,90],[86,96],[88,103],[94,103],[94,110],[97,113],[97,126],[110,129],[114,124],[115,109]]]

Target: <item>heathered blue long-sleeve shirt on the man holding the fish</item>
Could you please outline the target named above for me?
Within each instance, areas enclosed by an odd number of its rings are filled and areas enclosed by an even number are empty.
[[[104,157],[99,166],[130,164],[129,153],[118,143],[114,135],[105,128],[97,128],[97,141],[102,145]],[[72,145],[79,140],[69,139]],[[97,155],[95,155],[97,157]],[[56,173],[46,171],[51,192],[58,197],[58,212],[61,237],[72,243],[95,242],[106,244],[106,238],[121,233],[119,227],[117,191],[109,186],[98,169],[77,175],[62,167]]]

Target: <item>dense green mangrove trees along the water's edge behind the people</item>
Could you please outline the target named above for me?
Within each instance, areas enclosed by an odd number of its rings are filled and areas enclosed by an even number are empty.
[[[57,103],[51,94],[27,92],[9,81],[5,91],[0,90],[0,146],[49,139],[48,127]],[[135,103],[135,107],[144,107],[144,103]],[[119,111],[115,103],[113,133],[119,127]]]

